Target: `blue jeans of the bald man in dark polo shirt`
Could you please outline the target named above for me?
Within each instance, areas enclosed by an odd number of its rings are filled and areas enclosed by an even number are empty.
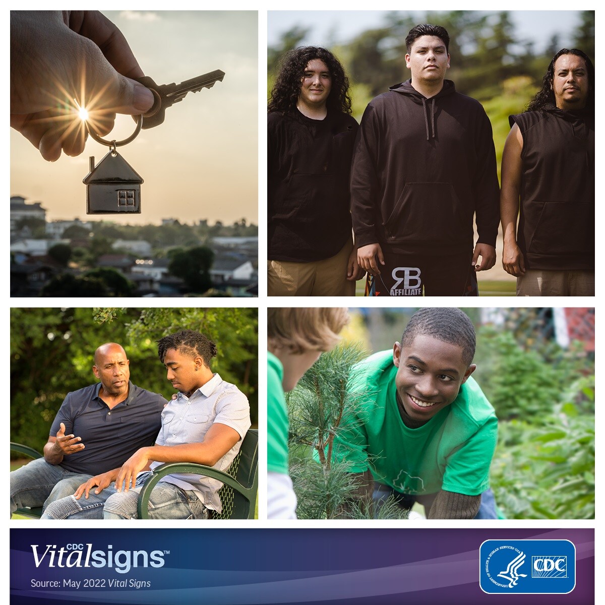
[[[24,506],[47,506],[73,494],[92,475],[66,471],[44,458],[31,460],[10,474],[10,514]]]

